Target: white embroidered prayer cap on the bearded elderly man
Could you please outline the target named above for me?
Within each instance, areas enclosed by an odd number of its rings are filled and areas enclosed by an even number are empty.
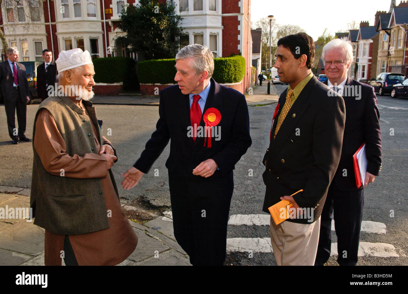
[[[91,54],[88,50],[82,51],[80,48],[75,48],[67,51],[61,51],[58,54],[57,60],[58,73],[66,71],[67,69],[73,69],[74,67],[90,64],[92,62]]]

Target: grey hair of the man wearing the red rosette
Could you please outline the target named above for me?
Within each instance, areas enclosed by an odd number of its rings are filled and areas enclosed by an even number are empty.
[[[195,58],[193,61],[193,69],[195,71],[195,75],[199,75],[204,71],[208,72],[207,79],[209,79],[213,75],[214,56],[210,49],[208,49],[208,47],[200,44],[191,44],[185,46],[176,54],[176,61],[179,59],[187,59],[190,57]]]

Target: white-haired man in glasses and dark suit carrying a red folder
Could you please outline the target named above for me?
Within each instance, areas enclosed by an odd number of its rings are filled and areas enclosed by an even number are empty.
[[[323,47],[322,59],[327,84],[343,96],[346,104],[346,127],[337,172],[331,183],[322,211],[319,247],[315,265],[323,265],[330,257],[331,218],[334,210],[337,234],[337,262],[356,265],[363,217],[364,187],[374,181],[381,170],[381,130],[377,97],[372,86],[347,76],[353,60],[350,42],[335,39]],[[364,186],[357,188],[353,154],[366,143],[367,172]]]

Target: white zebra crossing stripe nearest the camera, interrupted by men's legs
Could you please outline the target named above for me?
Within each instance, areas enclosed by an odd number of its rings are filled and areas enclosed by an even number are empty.
[[[227,238],[227,252],[271,253],[271,238]],[[337,256],[337,243],[332,243],[330,255]],[[386,243],[360,242],[358,256],[399,257],[395,247]]]

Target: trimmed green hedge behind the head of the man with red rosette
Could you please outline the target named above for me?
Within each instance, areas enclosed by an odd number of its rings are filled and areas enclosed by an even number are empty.
[[[175,84],[175,59],[146,60],[137,64],[137,76],[142,84]],[[245,58],[233,56],[214,59],[213,78],[217,83],[241,82],[245,75]]]

